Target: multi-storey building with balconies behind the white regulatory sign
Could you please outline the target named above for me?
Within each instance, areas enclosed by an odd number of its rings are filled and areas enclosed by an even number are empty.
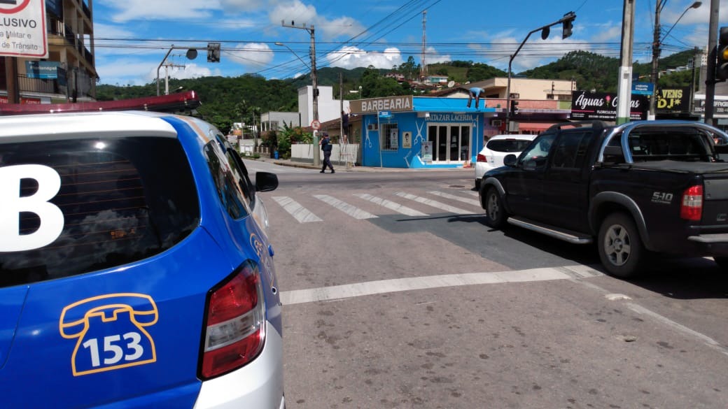
[[[0,58],[0,74],[15,63],[21,103],[95,100],[93,0],[45,0],[49,54],[46,59]],[[0,103],[7,101],[0,75]]]

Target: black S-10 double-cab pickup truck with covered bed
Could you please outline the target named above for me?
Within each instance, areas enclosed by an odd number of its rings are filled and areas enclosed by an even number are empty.
[[[713,256],[728,269],[728,135],[699,122],[550,127],[483,175],[486,224],[597,242],[609,274],[635,277],[650,254]]]

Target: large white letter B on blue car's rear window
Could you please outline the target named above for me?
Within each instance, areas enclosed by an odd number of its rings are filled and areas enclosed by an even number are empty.
[[[20,180],[35,179],[38,191],[20,196]],[[60,190],[60,175],[41,164],[0,167],[0,251],[24,251],[50,245],[63,231],[63,212],[48,202]],[[35,213],[40,226],[20,234],[20,213]]]

